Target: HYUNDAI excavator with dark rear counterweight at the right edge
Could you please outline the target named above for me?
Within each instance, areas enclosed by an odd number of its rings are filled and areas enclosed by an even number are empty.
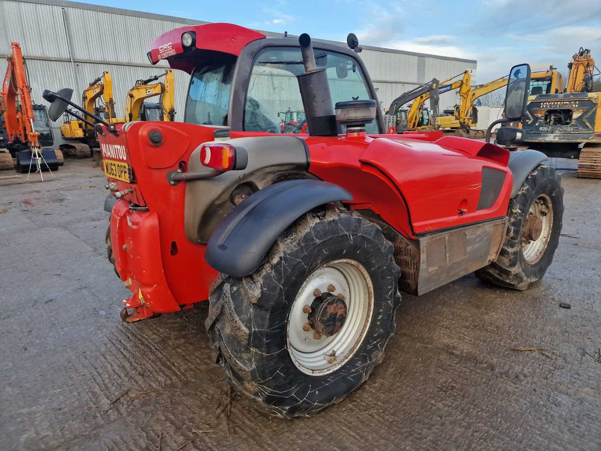
[[[578,177],[601,179],[601,93],[591,92],[599,70],[591,51],[583,48],[567,66],[564,93],[528,97],[524,141],[548,156],[578,158]]]

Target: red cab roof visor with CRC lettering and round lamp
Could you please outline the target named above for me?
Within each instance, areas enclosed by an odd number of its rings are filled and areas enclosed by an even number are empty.
[[[182,35],[185,32],[189,32],[193,36],[190,48],[185,48],[182,44]],[[194,69],[192,61],[187,58],[174,57],[182,55],[192,48],[224,52],[237,57],[246,44],[266,37],[263,33],[233,23],[186,25],[163,33],[152,41],[148,51],[148,60],[152,64],[156,64],[160,60],[167,60],[172,68],[191,73]]]

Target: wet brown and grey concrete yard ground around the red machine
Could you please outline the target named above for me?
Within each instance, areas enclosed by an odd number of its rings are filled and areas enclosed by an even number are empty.
[[[230,394],[206,305],[121,322],[105,179],[90,160],[56,176],[0,181],[0,450],[601,449],[601,180],[564,174],[539,286],[469,275],[404,296],[369,381],[282,421]],[[526,347],[545,351],[513,350]]]

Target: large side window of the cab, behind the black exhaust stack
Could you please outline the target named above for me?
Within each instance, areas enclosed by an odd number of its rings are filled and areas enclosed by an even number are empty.
[[[361,68],[353,58],[322,49],[315,50],[315,57],[317,66],[326,68],[332,105],[371,99]],[[268,47],[260,51],[246,93],[243,129],[301,133],[307,121],[296,76],[304,71],[300,48]],[[367,124],[367,132],[379,133],[376,121]]]

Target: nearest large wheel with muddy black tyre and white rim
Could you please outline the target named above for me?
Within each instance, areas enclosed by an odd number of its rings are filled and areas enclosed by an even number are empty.
[[[206,327],[218,361],[269,413],[311,416],[382,361],[399,277],[377,225],[340,210],[307,213],[254,274],[216,281]]]

